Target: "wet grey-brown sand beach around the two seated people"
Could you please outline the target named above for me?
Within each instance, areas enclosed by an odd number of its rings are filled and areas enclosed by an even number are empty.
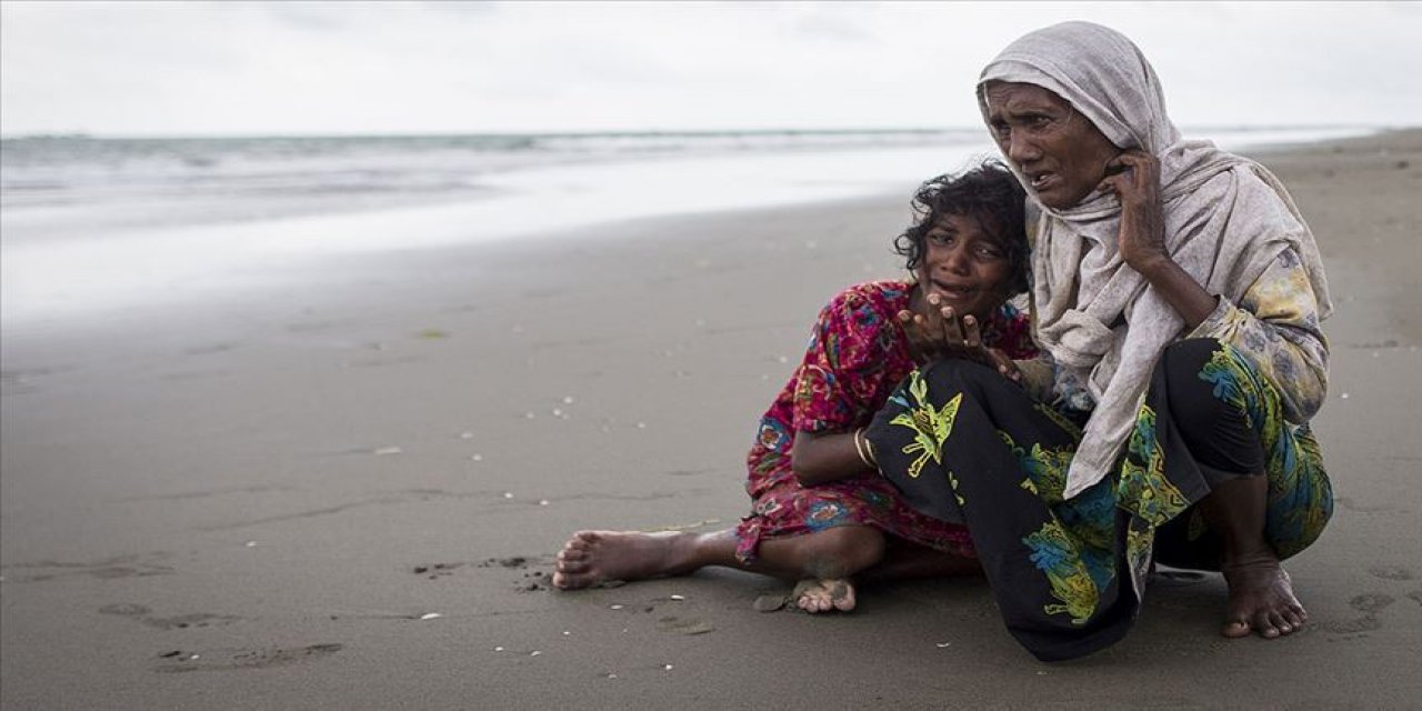
[[[4,708],[1415,708],[1422,131],[1261,154],[1327,259],[1338,506],[1313,623],[1214,574],[1041,664],[981,580],[757,611],[735,572],[562,593],[582,528],[724,528],[823,301],[907,196],[290,266],[300,289],[4,327]]]

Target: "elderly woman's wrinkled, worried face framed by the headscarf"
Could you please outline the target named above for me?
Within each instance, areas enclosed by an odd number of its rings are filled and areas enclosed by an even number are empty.
[[[988,84],[987,125],[1042,205],[1071,208],[1106,176],[1121,149],[1066,100],[1035,84]]]

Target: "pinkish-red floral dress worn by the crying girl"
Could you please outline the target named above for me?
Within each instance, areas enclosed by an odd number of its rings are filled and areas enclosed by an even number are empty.
[[[909,343],[896,320],[913,284],[870,282],[839,293],[819,314],[805,358],[775,402],[747,456],[751,515],[737,528],[737,557],[755,559],[761,540],[832,526],[875,526],[890,536],[974,557],[967,529],[909,508],[877,472],[801,486],[791,471],[795,432],[865,427],[910,371]],[[1010,304],[984,324],[988,346],[1012,358],[1037,354],[1027,317]]]

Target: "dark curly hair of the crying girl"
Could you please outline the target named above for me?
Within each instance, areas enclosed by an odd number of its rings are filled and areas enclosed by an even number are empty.
[[[1011,264],[1004,290],[1027,292],[1027,192],[1000,161],[985,159],[960,173],[929,178],[913,195],[913,226],[893,240],[910,272],[923,262],[929,230],[946,215],[968,215],[1007,252]]]

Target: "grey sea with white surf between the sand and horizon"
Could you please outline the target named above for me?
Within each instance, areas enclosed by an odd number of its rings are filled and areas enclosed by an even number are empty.
[[[1224,148],[1357,127],[1194,132]],[[813,203],[994,155],[960,131],[0,141],[0,317],[263,289],[266,266]]]

